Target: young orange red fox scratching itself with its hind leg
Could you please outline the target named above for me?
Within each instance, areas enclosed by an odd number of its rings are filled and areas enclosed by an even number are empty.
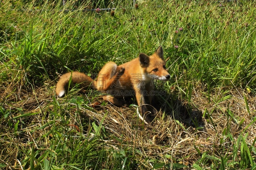
[[[125,104],[125,97],[135,95],[140,113],[145,115],[149,111],[155,115],[158,110],[149,105],[156,107],[154,80],[170,79],[165,64],[163,48],[159,46],[151,56],[140,53],[138,58],[119,66],[112,61],[106,63],[95,80],[77,71],[66,73],[60,77],[56,85],[56,95],[64,96],[69,80],[72,80],[73,84],[77,83],[81,87],[90,87],[109,94],[103,99],[117,106]],[[151,121],[150,118],[147,120]]]

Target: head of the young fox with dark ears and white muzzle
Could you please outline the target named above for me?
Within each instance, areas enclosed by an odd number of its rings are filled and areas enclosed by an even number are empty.
[[[170,79],[170,74],[166,70],[166,61],[163,56],[163,48],[159,46],[156,52],[148,56],[144,53],[139,55],[140,66],[143,68],[146,74],[146,80],[161,80],[168,81]]]

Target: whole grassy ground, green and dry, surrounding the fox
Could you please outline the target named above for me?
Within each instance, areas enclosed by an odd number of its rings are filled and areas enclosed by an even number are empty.
[[[255,3],[113,1],[111,16],[79,2],[0,3],[1,168],[256,168]],[[155,129],[135,99],[120,108],[77,87],[54,94],[60,74],[95,76],[159,45],[172,79],[157,83]]]

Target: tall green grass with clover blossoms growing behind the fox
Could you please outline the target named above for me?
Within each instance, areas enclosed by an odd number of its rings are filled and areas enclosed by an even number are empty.
[[[64,66],[97,73],[100,67],[92,68],[96,61],[99,66],[109,60],[124,63],[163,44],[169,63],[178,59],[172,65],[178,77],[186,70],[188,77],[206,84],[255,88],[253,3],[145,3],[133,10],[116,2],[112,17],[105,11],[83,12],[84,6],[65,11],[72,4],[53,8],[45,3],[35,11],[18,2],[2,3],[8,15],[1,20],[15,17],[3,23],[1,54],[11,58],[13,69],[29,72],[28,80],[56,77],[56,71],[68,71]]]

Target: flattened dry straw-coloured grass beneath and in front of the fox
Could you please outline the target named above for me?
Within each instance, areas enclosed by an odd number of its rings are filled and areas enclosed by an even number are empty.
[[[217,158],[225,154],[232,154],[233,149],[230,147],[232,141],[220,142],[225,137],[224,129],[228,129],[234,140],[243,131],[248,133],[249,145],[256,137],[255,124],[247,127],[252,122],[252,118],[256,116],[256,98],[243,89],[215,89],[210,94],[209,102],[205,95],[205,91],[207,91],[205,87],[197,85],[193,88],[191,103],[180,101],[178,98],[168,100],[170,102],[168,104],[164,103],[163,108],[166,115],[164,118],[156,119],[153,124],[155,129],[151,129],[138,118],[135,107],[115,107],[108,104],[106,106],[93,105],[92,109],[88,109],[81,105],[65,110],[66,106],[70,107],[70,102],[67,101],[68,97],[55,99],[51,85],[53,84],[36,88],[32,92],[23,91],[22,95],[8,92],[10,88],[1,92],[2,107],[10,114],[1,119],[0,161],[8,167],[20,168],[19,159],[26,158],[26,156],[22,156],[22,154],[25,155],[23,150],[31,150],[33,147],[38,150],[49,149],[52,136],[45,135],[51,132],[53,125],[61,126],[69,132],[70,129],[73,129],[76,132],[73,131],[72,136],[82,135],[84,139],[91,137],[90,140],[92,140],[92,134],[89,132],[90,126],[92,126],[90,122],[96,121],[96,124],[99,125],[104,119],[102,125],[108,134],[108,137],[105,136],[102,139],[105,149],[114,148],[118,151],[121,147],[130,148],[137,155],[138,166],[148,169],[153,167],[153,163],[147,158],[165,163],[179,162],[191,166],[201,158],[196,148],[200,153],[207,152],[208,155],[215,155]],[[226,94],[223,94],[224,91]],[[174,90],[173,93],[177,92]],[[231,97],[222,101],[221,99],[227,95],[231,95]],[[170,96],[175,97],[172,94]],[[244,96],[247,98],[250,114],[247,111]],[[17,101],[10,104],[10,101],[13,100]],[[53,105],[54,100],[60,103],[63,109],[61,113],[65,115],[67,124],[63,124],[63,120],[59,116],[51,115],[56,112],[56,109],[59,109]],[[100,97],[94,98],[94,100],[97,100],[97,103],[93,104],[102,102]],[[193,107],[188,108],[188,106]],[[229,113],[233,114],[233,117],[227,117],[227,109],[229,109]],[[198,125],[193,123],[195,120]],[[241,122],[242,120],[244,121]],[[18,121],[22,122],[17,125],[18,131],[6,126],[8,123],[12,123],[12,127],[14,127]],[[83,127],[83,121],[88,121],[86,128]],[[80,131],[81,134],[79,134]]]

